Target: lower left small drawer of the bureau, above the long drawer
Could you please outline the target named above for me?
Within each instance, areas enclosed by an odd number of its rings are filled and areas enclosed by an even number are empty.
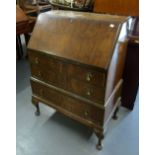
[[[58,73],[57,70],[53,71],[35,64],[31,64],[31,75],[54,86],[61,88],[65,87],[65,75]]]

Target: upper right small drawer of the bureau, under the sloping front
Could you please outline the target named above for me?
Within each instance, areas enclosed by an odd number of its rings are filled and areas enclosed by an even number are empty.
[[[78,65],[68,65],[68,75],[79,80],[91,83],[97,86],[104,87],[105,74],[102,72],[89,70]]]

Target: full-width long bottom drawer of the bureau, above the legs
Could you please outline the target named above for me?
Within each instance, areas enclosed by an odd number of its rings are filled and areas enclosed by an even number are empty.
[[[31,80],[32,92],[34,95],[47,100],[51,106],[61,107],[63,110],[77,115],[86,120],[92,121],[95,124],[102,125],[103,110],[89,103],[67,96],[66,94],[53,89],[50,86],[40,82]]]

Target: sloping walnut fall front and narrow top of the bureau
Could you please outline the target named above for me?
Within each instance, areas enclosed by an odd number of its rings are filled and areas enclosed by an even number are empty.
[[[28,48],[106,69],[127,17],[72,11],[38,16]]]

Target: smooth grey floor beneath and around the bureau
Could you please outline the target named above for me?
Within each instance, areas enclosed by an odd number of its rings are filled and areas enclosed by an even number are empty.
[[[93,132],[52,108],[40,104],[35,116],[31,104],[30,71],[27,60],[17,61],[17,155],[138,155],[139,98],[133,111],[121,108],[111,120],[102,151],[95,148]]]

